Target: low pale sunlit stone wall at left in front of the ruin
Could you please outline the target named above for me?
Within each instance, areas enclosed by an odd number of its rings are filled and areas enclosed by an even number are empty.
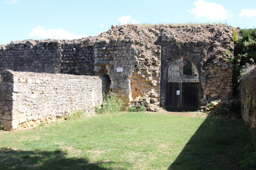
[[[51,73],[1,73],[0,124],[8,130],[30,127],[46,119],[84,109],[102,102],[102,79]]]

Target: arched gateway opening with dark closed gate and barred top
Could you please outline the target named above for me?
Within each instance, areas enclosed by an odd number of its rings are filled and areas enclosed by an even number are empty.
[[[166,71],[165,107],[168,111],[199,108],[200,78],[196,65],[186,57],[172,61]]]

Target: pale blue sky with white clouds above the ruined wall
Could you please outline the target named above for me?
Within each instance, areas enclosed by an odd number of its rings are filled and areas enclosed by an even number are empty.
[[[225,23],[255,28],[256,2],[0,0],[0,44],[23,39],[95,36],[111,25]]]

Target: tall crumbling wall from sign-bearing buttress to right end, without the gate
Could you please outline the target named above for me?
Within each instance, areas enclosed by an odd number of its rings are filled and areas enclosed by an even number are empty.
[[[105,72],[111,71],[110,89],[118,97],[122,95],[127,106],[137,102],[159,105],[160,101],[164,106],[165,71],[172,61],[184,56],[199,71],[201,102],[229,98],[233,92],[229,60],[233,56],[233,29],[228,25],[113,27],[98,36],[105,45],[95,44],[95,70],[110,62],[103,66]],[[119,46],[116,50],[113,42]],[[113,57],[99,57],[98,53]],[[116,71],[122,66],[124,74]]]

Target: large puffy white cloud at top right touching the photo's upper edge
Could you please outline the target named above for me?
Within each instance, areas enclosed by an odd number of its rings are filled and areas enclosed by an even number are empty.
[[[231,15],[229,10],[218,3],[197,0],[194,1],[194,6],[196,8],[190,9],[188,12],[196,14],[197,18],[205,17],[211,20],[226,20]]]

